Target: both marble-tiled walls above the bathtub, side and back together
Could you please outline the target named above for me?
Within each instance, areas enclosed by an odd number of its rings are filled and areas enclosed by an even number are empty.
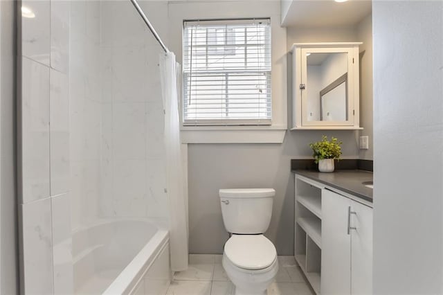
[[[167,3],[141,7],[167,35]],[[159,53],[129,1],[71,3],[73,229],[100,218],[168,217]]]

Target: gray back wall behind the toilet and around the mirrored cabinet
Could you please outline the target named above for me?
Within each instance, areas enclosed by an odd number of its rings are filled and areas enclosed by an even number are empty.
[[[356,28],[287,29],[288,51],[295,42],[356,39]],[[289,82],[290,73],[288,63]],[[290,105],[289,100],[288,111]],[[293,255],[294,191],[290,160],[310,158],[309,143],[318,141],[323,134],[343,141],[343,157],[359,157],[359,132],[352,130],[288,131],[282,144],[188,145],[190,253],[223,253],[228,233],[221,218],[219,188],[269,187],[275,189],[276,195],[271,225],[265,235],[275,244],[279,255]]]

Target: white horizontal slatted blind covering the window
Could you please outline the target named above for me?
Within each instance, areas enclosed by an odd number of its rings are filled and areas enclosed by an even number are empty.
[[[271,125],[270,19],[185,21],[183,125]]]

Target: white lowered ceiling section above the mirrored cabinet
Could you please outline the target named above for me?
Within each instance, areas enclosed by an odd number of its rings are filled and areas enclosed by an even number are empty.
[[[370,14],[370,0],[349,0],[337,3],[334,0],[284,1],[286,15],[282,26],[300,28],[354,26]]]

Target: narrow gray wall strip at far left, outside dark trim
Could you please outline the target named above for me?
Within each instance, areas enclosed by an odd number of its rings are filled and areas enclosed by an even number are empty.
[[[0,1],[0,294],[18,293],[15,14],[14,1]]]

